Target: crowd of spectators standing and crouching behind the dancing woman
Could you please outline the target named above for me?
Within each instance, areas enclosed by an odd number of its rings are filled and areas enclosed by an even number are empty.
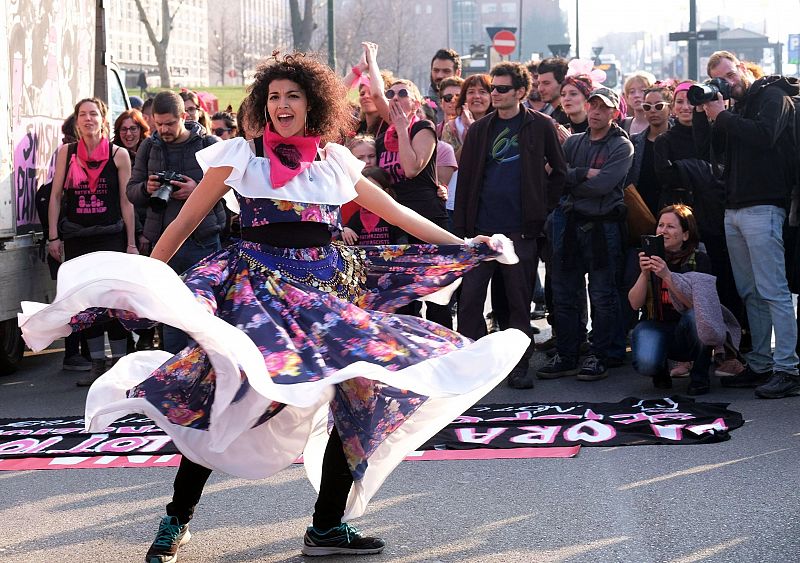
[[[509,327],[533,338],[541,329],[531,320],[546,309],[552,337],[509,374],[514,388],[533,387],[534,376],[604,379],[630,358],[657,388],[687,377],[689,394],[708,393],[716,374],[764,398],[800,394],[787,282],[796,265],[784,256],[797,236],[787,220],[797,187],[795,82],[762,77],[726,51],[707,71],[730,95],[694,104],[692,81],[634,72],[620,96],[586,61],[462,71],[458,53],[437,51],[423,96],[364,43],[344,78],[354,119],[342,141],[365,176],[458,236],[506,235],[520,258],[467,273],[449,306],[403,312],[455,320],[471,338]],[[113,144],[131,162],[123,192],[146,254],[201,178],[194,153],[249,135],[232,108],[209,115],[190,91],[137,105],[114,123]],[[164,171],[178,178],[161,207],[152,198]],[[181,271],[219,249],[236,236],[231,225],[235,210],[220,203],[171,265]],[[354,203],[342,226],[346,244],[417,242]],[[139,341],[153,346],[153,333]],[[185,339],[166,329],[161,345],[176,352]],[[544,363],[531,364],[534,349],[547,353]]]

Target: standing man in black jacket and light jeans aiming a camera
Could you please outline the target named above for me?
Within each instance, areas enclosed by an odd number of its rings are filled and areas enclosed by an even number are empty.
[[[797,324],[786,282],[783,223],[795,181],[794,104],[800,92],[781,76],[755,80],[728,51],[708,60],[712,81],[689,89],[693,129],[712,162],[724,154],[725,238],[736,288],[747,309],[753,349],[747,368],[724,387],[755,387],[756,396],[800,395]],[[726,109],[725,100],[733,107]],[[770,342],[775,329],[775,351]]]

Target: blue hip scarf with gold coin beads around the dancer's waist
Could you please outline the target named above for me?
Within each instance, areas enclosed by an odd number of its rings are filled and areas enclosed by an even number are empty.
[[[327,256],[319,260],[302,260],[256,250],[252,245],[240,250],[251,271],[313,287],[325,293],[353,301],[364,293],[367,281],[366,253],[356,247],[333,243]],[[262,245],[262,248],[264,246]],[[267,247],[272,249],[272,247]]]

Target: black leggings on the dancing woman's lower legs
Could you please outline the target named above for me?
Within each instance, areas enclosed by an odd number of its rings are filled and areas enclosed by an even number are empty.
[[[203,487],[210,475],[211,469],[194,463],[184,456],[175,475],[175,492],[172,495],[172,502],[167,505],[167,514],[176,516],[182,525],[187,524],[194,515],[194,509],[200,502]],[[342,522],[347,496],[352,485],[353,475],[344,456],[342,439],[334,427],[325,447],[325,456],[322,458],[322,481],[314,505],[315,528],[328,530]]]

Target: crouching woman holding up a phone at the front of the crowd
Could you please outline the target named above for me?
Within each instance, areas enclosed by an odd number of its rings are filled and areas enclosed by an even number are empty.
[[[633,367],[642,375],[651,376],[656,388],[665,389],[672,387],[667,359],[692,361],[687,393],[702,395],[710,390],[712,348],[700,341],[692,297],[677,287],[673,274],[708,274],[711,263],[697,249],[697,223],[689,206],[678,204],[662,209],[656,235],[663,239],[664,256],[640,252],[641,273],[628,292],[631,307],[643,308],[645,314],[645,320],[633,329]],[[679,301],[677,308],[675,299]],[[719,299],[715,299],[719,305]]]

